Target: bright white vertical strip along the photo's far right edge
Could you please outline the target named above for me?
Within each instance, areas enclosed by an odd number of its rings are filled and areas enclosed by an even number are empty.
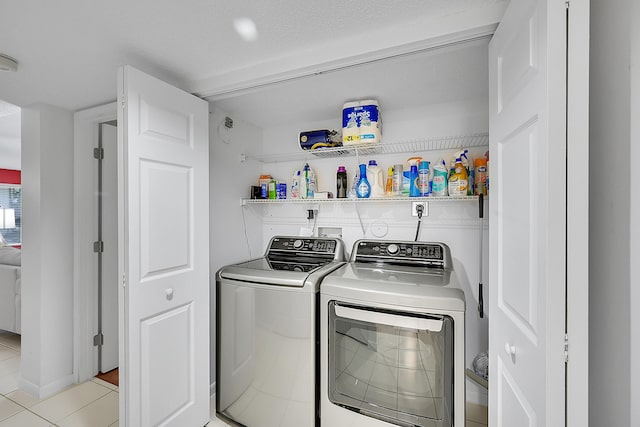
[[[640,3],[631,3],[631,22],[640,22]],[[640,26],[631,26],[631,113],[630,117],[640,117]],[[637,170],[637,160],[640,158],[640,123],[638,120],[631,121],[631,140],[629,144],[629,170]],[[632,172],[633,174],[633,172]],[[633,175],[632,175],[633,176]],[[630,215],[629,215],[629,259],[640,260],[640,192],[631,186],[630,193]],[[640,360],[640,275],[632,269],[634,265],[629,263],[629,278],[631,292],[631,361]],[[640,369],[632,366],[630,370],[631,393],[630,402],[640,402]],[[640,405],[630,405],[631,414],[629,425],[640,425]]]

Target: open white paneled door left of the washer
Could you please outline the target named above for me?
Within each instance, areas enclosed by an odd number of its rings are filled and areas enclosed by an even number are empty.
[[[208,104],[118,76],[120,423],[209,422]]]

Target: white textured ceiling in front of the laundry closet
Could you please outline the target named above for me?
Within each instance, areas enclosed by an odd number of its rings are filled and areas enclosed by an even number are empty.
[[[19,61],[17,73],[0,73],[0,99],[74,111],[106,103],[116,98],[116,70],[125,64],[210,94],[229,76],[259,75],[263,64],[271,72],[304,65],[301,58],[326,61],[412,42],[443,20],[499,19],[506,3],[0,0],[0,52]],[[240,17],[255,21],[255,42],[235,33]]]

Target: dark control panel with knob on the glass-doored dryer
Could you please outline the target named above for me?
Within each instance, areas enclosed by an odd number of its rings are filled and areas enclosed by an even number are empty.
[[[444,270],[453,268],[449,246],[437,242],[359,240],[353,247],[351,261],[427,266]]]

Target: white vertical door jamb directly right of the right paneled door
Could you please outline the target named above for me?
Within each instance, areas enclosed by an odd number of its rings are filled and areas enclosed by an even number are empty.
[[[567,23],[567,427],[589,425],[589,2]]]

